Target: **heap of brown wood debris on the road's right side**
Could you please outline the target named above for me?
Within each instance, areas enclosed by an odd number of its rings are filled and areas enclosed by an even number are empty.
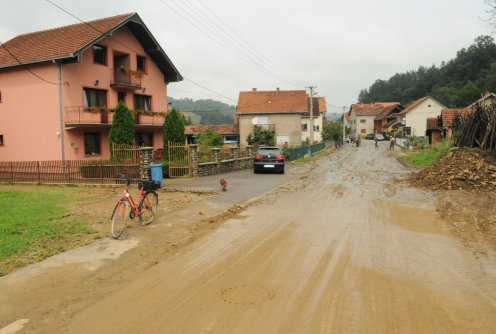
[[[496,165],[492,159],[478,149],[455,149],[434,165],[410,174],[408,181],[430,190],[496,191]]]

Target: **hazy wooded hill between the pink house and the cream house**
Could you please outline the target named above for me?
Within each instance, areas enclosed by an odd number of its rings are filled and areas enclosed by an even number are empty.
[[[236,107],[229,104],[207,100],[193,100],[191,98],[174,99],[168,97],[172,107],[191,120],[192,124],[213,125],[213,124],[233,124]]]

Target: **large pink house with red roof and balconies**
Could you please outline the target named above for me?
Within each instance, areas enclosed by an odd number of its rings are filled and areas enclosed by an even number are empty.
[[[167,85],[182,80],[136,13],[17,36],[0,46],[0,161],[110,156],[112,113],[163,148]]]

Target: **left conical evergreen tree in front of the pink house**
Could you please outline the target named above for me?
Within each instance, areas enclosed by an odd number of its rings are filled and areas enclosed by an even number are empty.
[[[132,145],[134,142],[134,119],[131,110],[119,102],[115,107],[112,127],[109,133],[110,152],[113,157],[113,144]]]

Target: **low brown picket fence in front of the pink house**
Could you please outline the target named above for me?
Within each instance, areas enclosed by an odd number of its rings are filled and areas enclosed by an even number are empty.
[[[0,182],[116,183],[116,173],[139,178],[139,163],[117,160],[0,162]]]

